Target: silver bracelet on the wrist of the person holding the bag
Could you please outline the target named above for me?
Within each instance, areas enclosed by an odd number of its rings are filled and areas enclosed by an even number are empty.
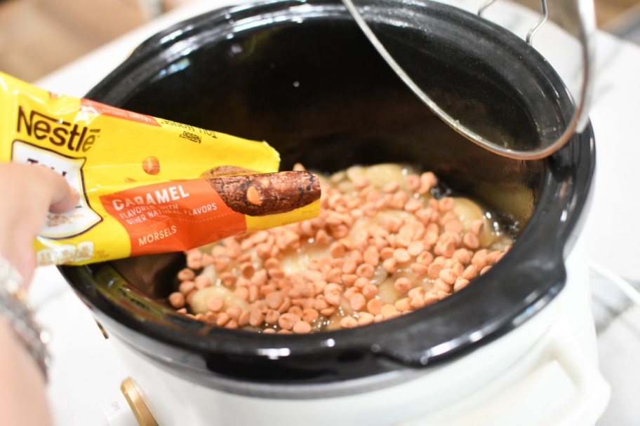
[[[38,364],[47,378],[49,354],[46,347],[48,336],[36,324],[27,294],[22,289],[22,277],[8,260],[0,256],[0,315],[13,328],[18,341]]]

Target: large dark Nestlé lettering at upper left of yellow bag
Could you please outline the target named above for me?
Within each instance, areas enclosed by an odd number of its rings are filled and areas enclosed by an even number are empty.
[[[18,107],[18,133],[76,153],[86,153],[98,142],[100,129],[57,120],[38,111]]]

